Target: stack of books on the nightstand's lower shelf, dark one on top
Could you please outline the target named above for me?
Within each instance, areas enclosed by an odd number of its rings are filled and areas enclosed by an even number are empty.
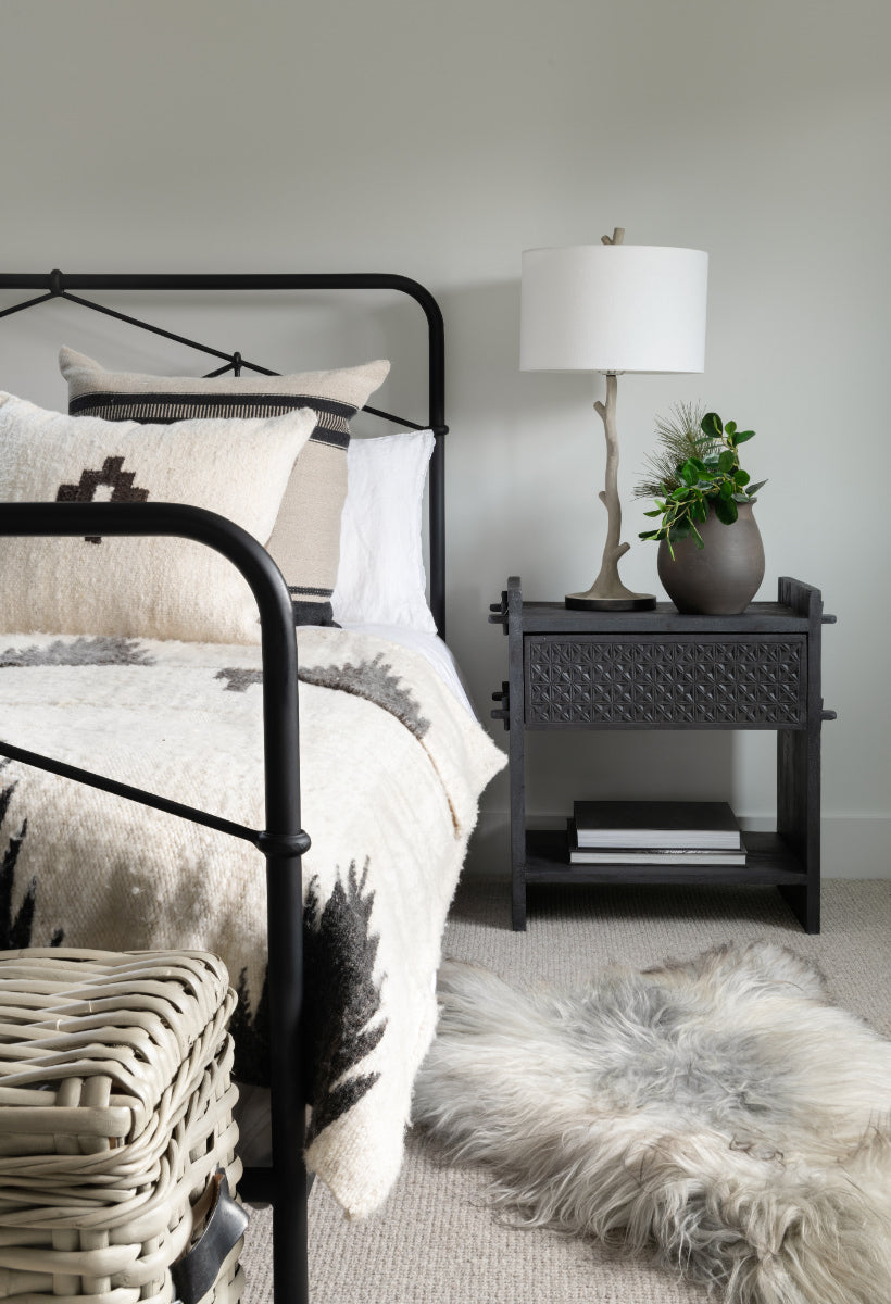
[[[575,802],[567,828],[570,863],[746,863],[727,802]]]

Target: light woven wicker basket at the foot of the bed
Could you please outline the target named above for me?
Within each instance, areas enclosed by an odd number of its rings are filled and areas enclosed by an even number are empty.
[[[241,1175],[234,1004],[202,952],[0,952],[0,1299],[176,1297],[193,1205]],[[239,1248],[207,1300],[239,1300]]]

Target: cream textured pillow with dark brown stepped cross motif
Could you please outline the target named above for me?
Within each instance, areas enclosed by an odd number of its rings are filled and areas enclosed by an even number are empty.
[[[314,425],[310,408],[137,425],[0,393],[0,503],[192,503],[265,542]],[[260,642],[247,580],[185,539],[0,539],[0,630]]]

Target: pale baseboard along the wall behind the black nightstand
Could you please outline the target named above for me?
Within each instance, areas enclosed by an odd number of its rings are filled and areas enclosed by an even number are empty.
[[[763,819],[740,820],[742,828],[764,828]],[[536,819],[560,828],[562,819]],[[506,811],[483,811],[471,838],[467,878],[510,876]],[[822,876],[824,879],[891,879],[891,815],[827,815],[822,820]]]

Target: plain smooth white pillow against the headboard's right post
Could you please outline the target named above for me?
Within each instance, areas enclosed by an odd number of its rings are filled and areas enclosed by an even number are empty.
[[[352,439],[331,606],[340,625],[403,625],[436,634],[427,605],[421,505],[430,430]]]

